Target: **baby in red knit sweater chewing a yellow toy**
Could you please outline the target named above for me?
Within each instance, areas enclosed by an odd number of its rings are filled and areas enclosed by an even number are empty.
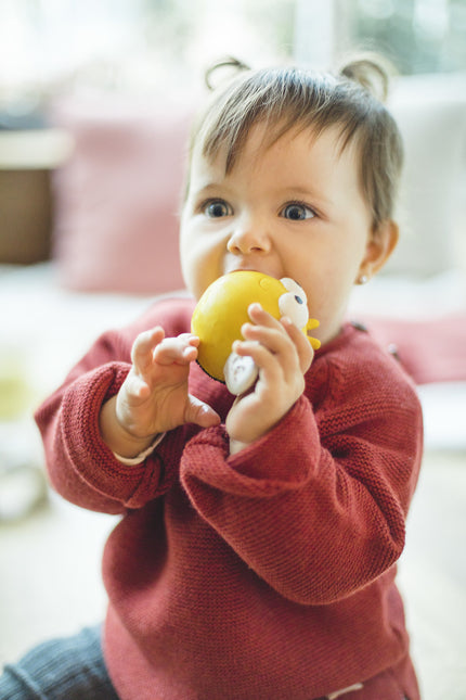
[[[191,142],[193,298],[103,334],[37,412],[54,487],[122,516],[103,651],[87,631],[61,642],[73,662],[54,664],[55,642],[48,665],[67,699],[419,699],[394,577],[422,412],[397,360],[345,320],[398,240],[385,81],[370,60],[337,75],[238,65]],[[237,397],[196,364],[190,331],[195,301],[234,270],[296,280],[322,343],[251,304],[234,349],[259,372]],[[49,697],[35,653],[0,689]]]

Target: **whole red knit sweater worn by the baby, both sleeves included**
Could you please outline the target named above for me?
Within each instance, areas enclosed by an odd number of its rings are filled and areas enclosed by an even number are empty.
[[[39,409],[50,479],[70,501],[122,513],[107,542],[104,651],[124,700],[418,699],[394,562],[422,454],[411,381],[346,326],[305,395],[230,457],[224,424],[184,425],[143,463],[98,428],[143,329],[174,335],[192,303],[159,303],[102,335]],[[224,420],[233,397],[196,365],[191,392]]]

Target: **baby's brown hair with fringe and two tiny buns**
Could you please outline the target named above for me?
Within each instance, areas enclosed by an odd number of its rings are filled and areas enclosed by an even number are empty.
[[[380,61],[355,59],[334,75],[287,66],[250,71],[229,59],[208,71],[209,88],[215,73],[225,66],[236,74],[213,90],[192,133],[191,154],[198,147],[203,156],[213,160],[224,150],[228,173],[258,122],[270,126],[270,144],[290,129],[309,128],[319,135],[337,126],[341,150],[353,141],[359,150],[361,188],[374,230],[392,217],[403,148],[397,124],[381,102],[388,73]]]

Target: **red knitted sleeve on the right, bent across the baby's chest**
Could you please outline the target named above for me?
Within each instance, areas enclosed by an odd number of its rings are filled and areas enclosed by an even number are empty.
[[[340,600],[396,562],[417,480],[422,415],[401,372],[328,362],[325,399],[302,396],[261,440],[229,456],[203,431],[181,464],[196,509],[285,598]],[[312,380],[311,380],[312,381]]]

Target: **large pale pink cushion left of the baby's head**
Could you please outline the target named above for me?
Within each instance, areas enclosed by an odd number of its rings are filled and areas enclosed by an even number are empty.
[[[55,173],[53,252],[74,290],[157,294],[184,287],[179,207],[192,110],[67,100],[54,122],[76,148]]]

